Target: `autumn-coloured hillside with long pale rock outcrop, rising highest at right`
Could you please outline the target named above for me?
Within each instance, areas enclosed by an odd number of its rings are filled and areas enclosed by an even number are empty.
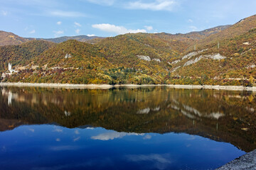
[[[172,60],[176,84],[252,86],[256,78],[256,16],[198,43],[198,50]],[[206,44],[203,44],[206,42]]]

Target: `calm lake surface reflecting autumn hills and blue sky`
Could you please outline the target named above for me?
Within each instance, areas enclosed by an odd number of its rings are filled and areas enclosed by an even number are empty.
[[[255,97],[1,88],[0,169],[215,169],[256,149]]]

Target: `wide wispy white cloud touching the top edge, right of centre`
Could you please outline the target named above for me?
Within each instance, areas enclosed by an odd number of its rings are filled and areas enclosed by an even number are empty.
[[[155,0],[154,2],[133,1],[127,4],[127,8],[151,11],[172,11],[175,5],[176,1],[174,0]]]

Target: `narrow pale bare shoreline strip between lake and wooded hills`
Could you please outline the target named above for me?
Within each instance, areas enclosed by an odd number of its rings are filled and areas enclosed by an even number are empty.
[[[40,84],[40,83],[0,83],[0,86],[18,86],[18,87],[43,87],[43,88],[65,88],[65,89],[111,89],[115,87],[155,87],[166,86],[174,89],[214,89],[229,91],[256,91],[256,86],[211,86],[211,85],[178,85],[178,84]]]

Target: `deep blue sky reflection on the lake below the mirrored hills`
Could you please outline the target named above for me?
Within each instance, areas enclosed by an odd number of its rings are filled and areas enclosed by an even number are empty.
[[[0,138],[3,169],[214,169],[245,153],[228,143],[172,132],[23,125]]]

